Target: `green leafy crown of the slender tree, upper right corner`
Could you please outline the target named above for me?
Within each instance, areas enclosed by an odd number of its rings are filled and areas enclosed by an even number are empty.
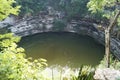
[[[113,17],[118,11],[116,0],[90,0],[87,7],[92,13],[101,13],[103,17],[108,19]]]

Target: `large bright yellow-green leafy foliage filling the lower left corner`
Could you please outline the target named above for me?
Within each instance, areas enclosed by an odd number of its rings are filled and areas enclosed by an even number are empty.
[[[0,79],[44,80],[46,60],[25,58],[24,49],[16,44],[19,40],[12,33],[0,35]]]

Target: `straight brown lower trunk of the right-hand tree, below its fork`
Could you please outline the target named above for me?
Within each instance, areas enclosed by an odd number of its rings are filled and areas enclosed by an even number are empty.
[[[105,29],[105,58],[106,58],[106,67],[110,67],[110,32],[109,29]]]

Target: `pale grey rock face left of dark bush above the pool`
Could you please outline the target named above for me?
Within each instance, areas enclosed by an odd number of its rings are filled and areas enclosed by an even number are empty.
[[[19,35],[27,36],[40,32],[52,31],[54,17],[50,15],[35,16],[27,19],[23,19],[16,22],[14,26],[10,27],[10,30]]]

